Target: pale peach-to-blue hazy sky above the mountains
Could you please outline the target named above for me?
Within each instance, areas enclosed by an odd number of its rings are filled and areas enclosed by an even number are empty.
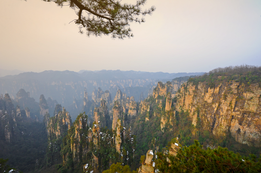
[[[79,34],[67,6],[2,1],[0,68],[172,73],[261,65],[260,0],[148,0],[151,5],[156,11],[145,23],[131,24],[133,38],[113,40]]]

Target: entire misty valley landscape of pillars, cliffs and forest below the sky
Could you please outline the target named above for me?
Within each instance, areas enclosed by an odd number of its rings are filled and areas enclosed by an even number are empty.
[[[0,172],[261,172],[261,67],[0,77]]]

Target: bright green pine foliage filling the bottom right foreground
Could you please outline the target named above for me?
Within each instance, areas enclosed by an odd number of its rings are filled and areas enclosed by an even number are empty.
[[[261,159],[255,155],[241,157],[227,148],[203,149],[195,140],[195,144],[179,150],[176,156],[158,154],[158,169],[162,172],[260,172]],[[170,162],[167,161],[169,158]]]

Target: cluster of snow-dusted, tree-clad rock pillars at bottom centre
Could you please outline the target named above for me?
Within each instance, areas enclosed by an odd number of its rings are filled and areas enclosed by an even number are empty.
[[[131,130],[126,132],[120,119],[117,119],[116,131],[104,129],[101,124],[101,119],[104,117],[98,116],[98,114],[103,113],[106,109],[105,101],[101,102],[100,107],[95,108],[97,114],[94,115],[95,122],[92,127],[87,125],[88,116],[80,114],[77,117],[73,123],[74,128],[68,130],[66,143],[61,150],[64,167],[72,159],[74,167],[85,165],[85,171],[101,172],[115,162],[120,161],[127,164],[133,161],[135,139],[131,135]]]

